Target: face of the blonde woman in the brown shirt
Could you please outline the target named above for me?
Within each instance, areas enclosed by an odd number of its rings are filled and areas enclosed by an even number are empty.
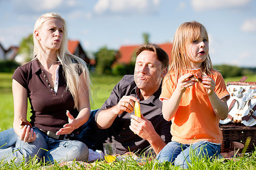
[[[47,52],[58,50],[63,40],[63,22],[57,18],[50,18],[43,23],[42,27],[35,31],[36,37]]]

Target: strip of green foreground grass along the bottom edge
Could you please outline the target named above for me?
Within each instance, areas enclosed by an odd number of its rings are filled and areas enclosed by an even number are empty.
[[[193,154],[193,153],[192,153]],[[256,152],[253,152],[248,155],[243,155],[232,160],[228,159],[214,159],[210,161],[207,158],[198,159],[195,158],[192,160],[189,165],[189,169],[250,169],[254,170],[256,164]],[[53,165],[47,165],[42,162],[36,162],[35,159],[32,159],[28,163],[5,163],[0,161],[1,169],[181,169],[171,165],[169,162],[159,163],[158,160],[155,160],[152,157],[147,157],[143,159],[142,162],[136,162],[131,156],[125,158],[124,160],[116,160],[115,162],[108,164],[105,161],[96,161],[94,163],[82,163],[82,162],[69,162],[68,164],[61,165],[55,163]]]

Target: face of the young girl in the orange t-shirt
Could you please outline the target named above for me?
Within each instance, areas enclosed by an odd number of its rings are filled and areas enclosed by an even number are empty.
[[[186,44],[187,55],[192,69],[201,67],[201,63],[207,58],[209,44],[206,32],[201,32],[199,38]]]

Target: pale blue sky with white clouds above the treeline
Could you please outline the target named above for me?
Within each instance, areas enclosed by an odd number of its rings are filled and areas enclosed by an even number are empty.
[[[196,20],[209,34],[213,65],[256,67],[254,0],[0,0],[0,42],[19,45],[32,33],[38,17],[58,12],[67,21],[71,40],[89,52],[106,45],[172,42],[176,28]]]

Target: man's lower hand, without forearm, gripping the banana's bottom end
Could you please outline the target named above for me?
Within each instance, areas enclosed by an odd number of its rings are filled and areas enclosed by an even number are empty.
[[[131,115],[131,125],[129,126],[131,131],[139,135],[139,137],[150,141],[151,137],[156,134],[154,126],[150,121],[141,115],[141,118],[135,115]],[[158,135],[158,134],[156,134]]]

